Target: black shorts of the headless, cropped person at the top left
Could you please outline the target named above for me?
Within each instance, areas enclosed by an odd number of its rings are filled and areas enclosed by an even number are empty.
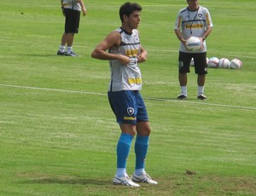
[[[80,11],[74,9],[64,9],[65,32],[79,33]]]

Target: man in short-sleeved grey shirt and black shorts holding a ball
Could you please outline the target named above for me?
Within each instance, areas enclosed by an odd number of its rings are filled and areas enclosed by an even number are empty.
[[[181,9],[177,14],[174,31],[181,41],[178,55],[178,79],[181,87],[181,94],[177,99],[188,98],[187,73],[190,72],[189,64],[191,59],[195,62],[195,73],[197,76],[198,95],[200,100],[207,99],[204,95],[206,74],[207,74],[207,43],[206,38],[212,32],[212,19],[208,9],[199,5],[198,0],[187,0],[188,7]],[[186,47],[189,37],[201,39],[201,49],[190,51]]]

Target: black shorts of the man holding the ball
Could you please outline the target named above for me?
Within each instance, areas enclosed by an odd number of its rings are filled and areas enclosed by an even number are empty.
[[[207,74],[207,53],[184,53],[179,52],[178,55],[178,72],[190,72],[190,61],[194,58],[195,73],[198,75]]]

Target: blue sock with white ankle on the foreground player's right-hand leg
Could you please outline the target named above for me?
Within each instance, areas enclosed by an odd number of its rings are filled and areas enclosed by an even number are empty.
[[[145,159],[148,153],[149,136],[137,135],[135,141],[136,167],[135,174],[140,176],[145,168]]]

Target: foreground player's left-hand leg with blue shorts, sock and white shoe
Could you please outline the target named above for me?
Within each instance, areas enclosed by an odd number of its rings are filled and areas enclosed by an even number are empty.
[[[139,187],[131,181],[126,172],[126,162],[131,149],[131,142],[136,135],[136,113],[133,98],[129,91],[108,92],[110,106],[121,130],[117,144],[117,170],[113,184]]]

